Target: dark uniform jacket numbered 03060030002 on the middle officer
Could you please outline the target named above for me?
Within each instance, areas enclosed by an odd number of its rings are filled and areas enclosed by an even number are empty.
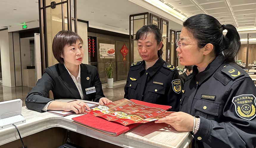
[[[161,57],[145,70],[145,61],[131,65],[124,87],[124,98],[169,105],[179,111],[181,84],[177,69]]]

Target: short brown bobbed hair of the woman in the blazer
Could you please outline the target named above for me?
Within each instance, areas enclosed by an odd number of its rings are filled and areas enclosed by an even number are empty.
[[[62,30],[56,34],[56,36],[53,38],[52,41],[52,53],[57,59],[58,62],[61,64],[64,63],[64,59],[60,57],[60,55],[63,55],[63,49],[64,46],[71,45],[71,44],[76,44],[77,40],[79,40],[83,44],[82,38],[77,34],[74,33],[73,31],[70,30]]]

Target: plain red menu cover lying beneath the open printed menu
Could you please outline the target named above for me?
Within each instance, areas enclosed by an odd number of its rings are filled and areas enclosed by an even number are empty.
[[[144,105],[147,107],[155,107],[163,110],[171,109],[171,106],[167,106],[167,105],[152,104],[152,103],[143,102],[143,101],[134,100],[134,99],[131,99],[130,101],[134,102],[135,104]],[[118,136],[141,124],[141,123],[133,123],[133,124],[124,126],[121,123],[114,122],[114,121],[107,121],[103,118],[95,117],[94,115],[91,115],[91,114],[78,116],[78,117],[72,118],[72,120],[74,120],[72,122],[75,124],[84,126],[86,128],[90,128],[94,131],[98,131],[100,133],[104,133],[109,136]]]

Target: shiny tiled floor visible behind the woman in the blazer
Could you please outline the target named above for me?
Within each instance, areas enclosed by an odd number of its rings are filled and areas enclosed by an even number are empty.
[[[25,99],[32,87],[18,86],[7,87],[0,83],[0,102],[20,98],[22,106],[25,106]],[[111,101],[116,101],[124,98],[124,86],[113,89],[103,89],[104,95]]]

